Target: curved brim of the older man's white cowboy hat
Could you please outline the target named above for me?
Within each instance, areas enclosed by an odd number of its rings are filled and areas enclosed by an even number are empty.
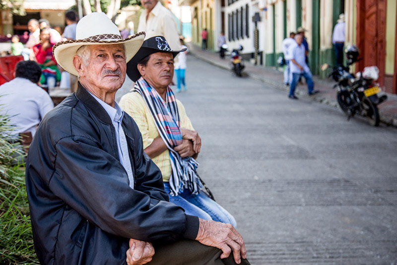
[[[61,41],[54,45],[53,55],[57,63],[67,72],[74,76],[78,76],[76,69],[73,66],[73,56],[76,55],[77,50],[84,45],[110,45],[110,44],[124,44],[126,51],[126,62],[129,62],[132,57],[139,51],[140,46],[145,38],[145,33],[139,32],[126,39],[119,40],[69,40]]]

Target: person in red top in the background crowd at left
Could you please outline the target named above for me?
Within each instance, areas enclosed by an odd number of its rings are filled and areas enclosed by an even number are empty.
[[[50,28],[40,28],[40,43],[33,46],[36,62],[42,69],[40,84],[45,88],[54,88],[61,81],[61,73],[53,56],[54,43],[50,42]]]

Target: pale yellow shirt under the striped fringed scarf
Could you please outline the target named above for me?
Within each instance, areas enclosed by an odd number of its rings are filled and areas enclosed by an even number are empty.
[[[185,107],[183,106],[181,101],[179,101],[178,99],[176,99],[176,101],[179,111],[180,127],[194,130],[192,122],[186,115]],[[125,112],[130,114],[130,116],[138,125],[139,131],[142,134],[143,148],[148,147],[149,145],[151,145],[155,138],[160,137],[150,110],[147,107],[143,97],[139,93],[130,92],[125,94],[121,98],[119,106]],[[163,175],[163,181],[168,182],[171,176],[171,162],[169,151],[164,151],[157,157],[152,158],[152,160],[160,169],[161,174]]]

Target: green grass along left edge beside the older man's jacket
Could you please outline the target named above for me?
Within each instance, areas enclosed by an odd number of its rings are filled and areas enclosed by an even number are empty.
[[[1,106],[0,106],[1,107]],[[38,264],[33,247],[19,143],[9,135],[8,117],[0,115],[0,264]]]

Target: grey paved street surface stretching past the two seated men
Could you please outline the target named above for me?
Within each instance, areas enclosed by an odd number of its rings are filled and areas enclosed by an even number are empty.
[[[193,56],[186,81],[176,96],[202,139],[199,174],[251,264],[397,264],[396,128]]]

